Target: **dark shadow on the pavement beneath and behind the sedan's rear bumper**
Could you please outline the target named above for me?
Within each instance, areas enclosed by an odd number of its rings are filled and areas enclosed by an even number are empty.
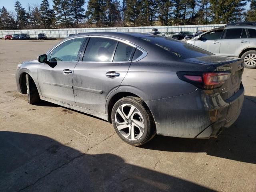
[[[206,152],[211,156],[256,164],[255,128],[256,97],[245,96],[240,116],[217,139],[202,140],[156,136],[141,147],[172,152]]]

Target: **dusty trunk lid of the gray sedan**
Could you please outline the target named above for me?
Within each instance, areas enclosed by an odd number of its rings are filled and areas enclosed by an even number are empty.
[[[238,92],[244,71],[244,60],[242,58],[229,58],[211,55],[190,58],[187,60],[201,64],[213,65],[218,72],[230,72],[230,78],[219,88],[219,92],[223,100],[227,100]]]

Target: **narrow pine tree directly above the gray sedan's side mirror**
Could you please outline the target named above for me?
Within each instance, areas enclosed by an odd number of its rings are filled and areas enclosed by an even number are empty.
[[[50,9],[48,0],[42,0],[39,11],[43,28],[52,28],[55,24],[55,13]]]

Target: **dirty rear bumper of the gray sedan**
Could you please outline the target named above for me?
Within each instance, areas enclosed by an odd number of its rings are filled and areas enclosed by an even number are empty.
[[[224,101],[219,93],[200,89],[190,94],[148,101],[157,134],[183,138],[217,137],[238,118],[244,101],[244,87]]]

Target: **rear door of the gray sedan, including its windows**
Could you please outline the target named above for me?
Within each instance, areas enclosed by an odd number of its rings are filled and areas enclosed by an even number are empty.
[[[91,37],[74,69],[77,106],[105,113],[106,98],[128,72],[135,46],[108,37]]]

